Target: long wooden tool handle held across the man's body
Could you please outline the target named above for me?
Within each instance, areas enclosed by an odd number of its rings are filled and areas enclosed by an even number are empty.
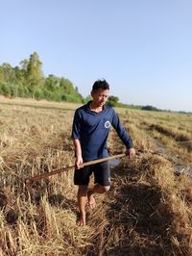
[[[111,160],[111,159],[125,157],[125,156],[126,156],[126,154],[119,154],[119,155],[114,155],[114,156],[110,156],[110,157],[107,157],[107,158],[96,159],[96,160],[92,160],[92,161],[89,161],[89,162],[85,162],[83,164],[83,166],[91,166],[91,165],[95,165],[95,164],[106,162],[106,161]],[[37,180],[41,180],[41,179],[47,178],[49,176],[58,174],[60,172],[67,171],[67,170],[69,170],[71,168],[75,168],[75,167],[76,166],[67,166],[67,167],[63,167],[63,168],[60,168],[60,169],[52,170],[50,172],[44,172],[42,174],[37,174],[37,175],[27,179],[27,183],[30,183],[30,182],[33,182],[33,181],[37,181]]]

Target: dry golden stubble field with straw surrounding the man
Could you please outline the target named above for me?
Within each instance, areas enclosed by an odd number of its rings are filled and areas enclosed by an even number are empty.
[[[191,115],[117,109],[137,156],[112,169],[85,227],[76,226],[73,170],[34,183],[29,197],[26,178],[73,166],[77,107],[0,97],[0,255],[191,255]],[[108,146],[124,150],[113,130]]]

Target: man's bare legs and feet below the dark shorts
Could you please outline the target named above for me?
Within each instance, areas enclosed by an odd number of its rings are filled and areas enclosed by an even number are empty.
[[[92,189],[88,189],[86,185],[80,185],[78,190],[78,207],[80,210],[80,218],[77,221],[79,226],[85,225],[85,205],[86,199],[88,200],[88,206],[94,209],[96,206],[94,193],[108,192],[109,186],[101,186],[96,184]]]

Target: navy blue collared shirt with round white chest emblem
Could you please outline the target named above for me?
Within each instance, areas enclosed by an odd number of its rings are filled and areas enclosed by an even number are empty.
[[[96,113],[89,109],[89,104],[76,110],[71,134],[73,139],[81,141],[83,160],[108,157],[107,140],[111,125],[126,147],[131,148],[132,139],[114,109],[105,105],[102,112]]]

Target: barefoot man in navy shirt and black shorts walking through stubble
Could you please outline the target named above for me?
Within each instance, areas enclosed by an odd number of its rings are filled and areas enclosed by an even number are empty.
[[[110,171],[108,162],[92,166],[84,166],[84,162],[108,157],[108,133],[110,126],[116,130],[119,138],[126,146],[126,155],[132,158],[135,150],[132,139],[121,124],[112,107],[106,105],[109,85],[106,80],[98,80],[91,90],[92,101],[76,110],[72,127],[72,139],[76,153],[76,170],[74,183],[79,185],[78,206],[79,226],[85,225],[86,199],[90,208],[95,207],[94,193],[108,192]],[[94,173],[95,185],[88,189],[89,177]]]

